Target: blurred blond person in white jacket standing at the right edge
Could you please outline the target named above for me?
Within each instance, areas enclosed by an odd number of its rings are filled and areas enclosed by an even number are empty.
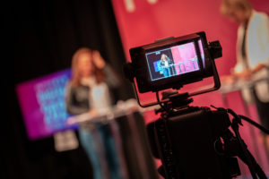
[[[221,13],[239,24],[237,39],[237,64],[231,81],[249,80],[253,75],[269,77],[269,18],[256,12],[248,0],[222,0]],[[253,98],[261,124],[269,129],[269,83],[257,82],[251,90],[242,90],[246,101]],[[263,135],[269,155],[269,136]]]

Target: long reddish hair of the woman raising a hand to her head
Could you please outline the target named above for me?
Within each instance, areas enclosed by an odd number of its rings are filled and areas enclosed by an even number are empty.
[[[72,57],[72,79],[71,79],[71,84],[72,86],[81,86],[81,75],[80,72],[78,70],[78,60],[80,55],[82,54],[92,54],[93,50],[91,50],[88,47],[81,47],[79,48],[73,55]],[[100,83],[102,81],[104,81],[105,79],[105,75],[104,72],[97,68],[96,65],[94,63],[92,63],[93,65],[93,75],[97,81],[97,83]]]

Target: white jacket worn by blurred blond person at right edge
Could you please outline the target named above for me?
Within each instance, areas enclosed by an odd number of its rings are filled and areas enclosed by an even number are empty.
[[[242,41],[244,37],[244,27],[239,26],[237,41],[237,60],[234,71],[242,72],[245,70],[243,58],[241,54]],[[265,64],[269,67],[269,18],[265,13],[252,12],[246,31],[246,58],[250,68],[254,68],[257,64]],[[257,72],[260,78],[269,77],[268,71],[265,69]],[[255,86],[256,95],[259,100],[269,102],[269,84],[267,81],[260,81]],[[243,97],[248,102],[251,100],[249,90],[242,90]]]

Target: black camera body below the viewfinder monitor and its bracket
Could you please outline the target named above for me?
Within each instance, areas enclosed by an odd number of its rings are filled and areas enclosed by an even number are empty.
[[[240,175],[238,159],[221,154],[221,136],[229,126],[226,112],[208,107],[187,107],[148,124],[153,156],[161,158],[161,175],[183,179]]]

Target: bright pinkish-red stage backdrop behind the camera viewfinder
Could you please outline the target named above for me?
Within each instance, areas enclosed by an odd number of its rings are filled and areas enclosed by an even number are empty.
[[[250,0],[257,11],[269,14],[268,0]],[[223,57],[216,60],[218,72],[229,74],[236,64],[236,38],[238,25],[220,14],[221,0],[112,0],[118,30],[124,45],[126,58],[130,61],[129,49],[154,42],[156,39],[178,37],[197,31],[205,31],[209,41],[220,40]],[[151,94],[142,95],[152,98]],[[227,95],[228,107],[246,115],[239,92]],[[194,98],[194,105],[225,107],[221,94],[211,92]],[[259,122],[256,108],[247,108],[250,117]],[[156,119],[154,113],[146,114],[147,122]],[[259,131],[244,124],[240,130],[248,149],[269,174],[269,161],[259,141]],[[246,166],[240,164],[243,175],[249,175]]]

